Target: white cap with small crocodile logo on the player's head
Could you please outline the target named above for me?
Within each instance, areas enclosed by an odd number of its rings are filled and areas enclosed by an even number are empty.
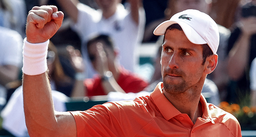
[[[178,23],[187,39],[194,44],[208,44],[213,54],[219,47],[219,29],[216,22],[205,13],[187,9],[174,14],[170,20],[162,22],[154,30],[155,35],[164,35],[167,27]]]

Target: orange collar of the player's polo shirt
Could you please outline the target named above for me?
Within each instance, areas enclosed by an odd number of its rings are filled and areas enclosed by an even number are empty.
[[[154,91],[150,94],[150,97],[154,101],[155,105],[158,107],[158,110],[161,112],[163,117],[168,121],[169,119],[175,117],[176,115],[181,114],[179,110],[177,110],[172,103],[165,97],[162,91],[163,82],[158,83]],[[209,107],[206,99],[201,94],[200,96],[200,103],[202,104],[202,112],[203,112],[203,119],[211,119],[209,115]]]

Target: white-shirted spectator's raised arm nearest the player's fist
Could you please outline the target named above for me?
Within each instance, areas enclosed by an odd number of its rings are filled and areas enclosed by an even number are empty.
[[[74,23],[77,22],[78,9],[76,5],[80,3],[78,0],[57,0],[59,5],[65,10],[64,12],[73,20]]]

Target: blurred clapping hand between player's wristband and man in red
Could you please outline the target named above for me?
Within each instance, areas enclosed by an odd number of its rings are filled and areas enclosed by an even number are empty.
[[[70,63],[76,72],[84,71],[84,63],[82,54],[78,49],[74,49],[73,46],[67,46],[67,52],[69,54]]]

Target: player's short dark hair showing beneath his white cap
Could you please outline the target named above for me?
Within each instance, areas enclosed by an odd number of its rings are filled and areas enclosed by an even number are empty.
[[[166,31],[167,30],[172,30],[172,29],[178,29],[179,31],[183,31],[182,28],[180,27],[180,25],[177,24],[177,23],[172,24],[169,27],[167,27]],[[165,34],[166,34],[166,31],[165,31]],[[163,43],[165,41],[165,34],[163,36]],[[203,54],[203,62],[202,62],[202,65],[204,65],[204,63],[206,61],[206,58],[211,56],[213,54],[213,52],[211,51],[208,44],[202,44],[202,48],[203,48],[203,53],[202,53]]]

